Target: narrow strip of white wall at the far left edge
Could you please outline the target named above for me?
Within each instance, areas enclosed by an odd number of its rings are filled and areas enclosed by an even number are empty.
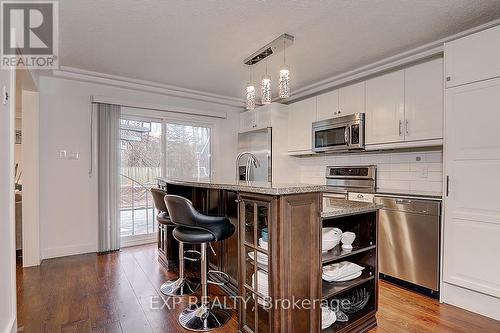
[[[5,86],[10,103],[0,99],[0,332],[16,331],[14,240],[14,102],[15,72],[0,70],[0,91]]]

